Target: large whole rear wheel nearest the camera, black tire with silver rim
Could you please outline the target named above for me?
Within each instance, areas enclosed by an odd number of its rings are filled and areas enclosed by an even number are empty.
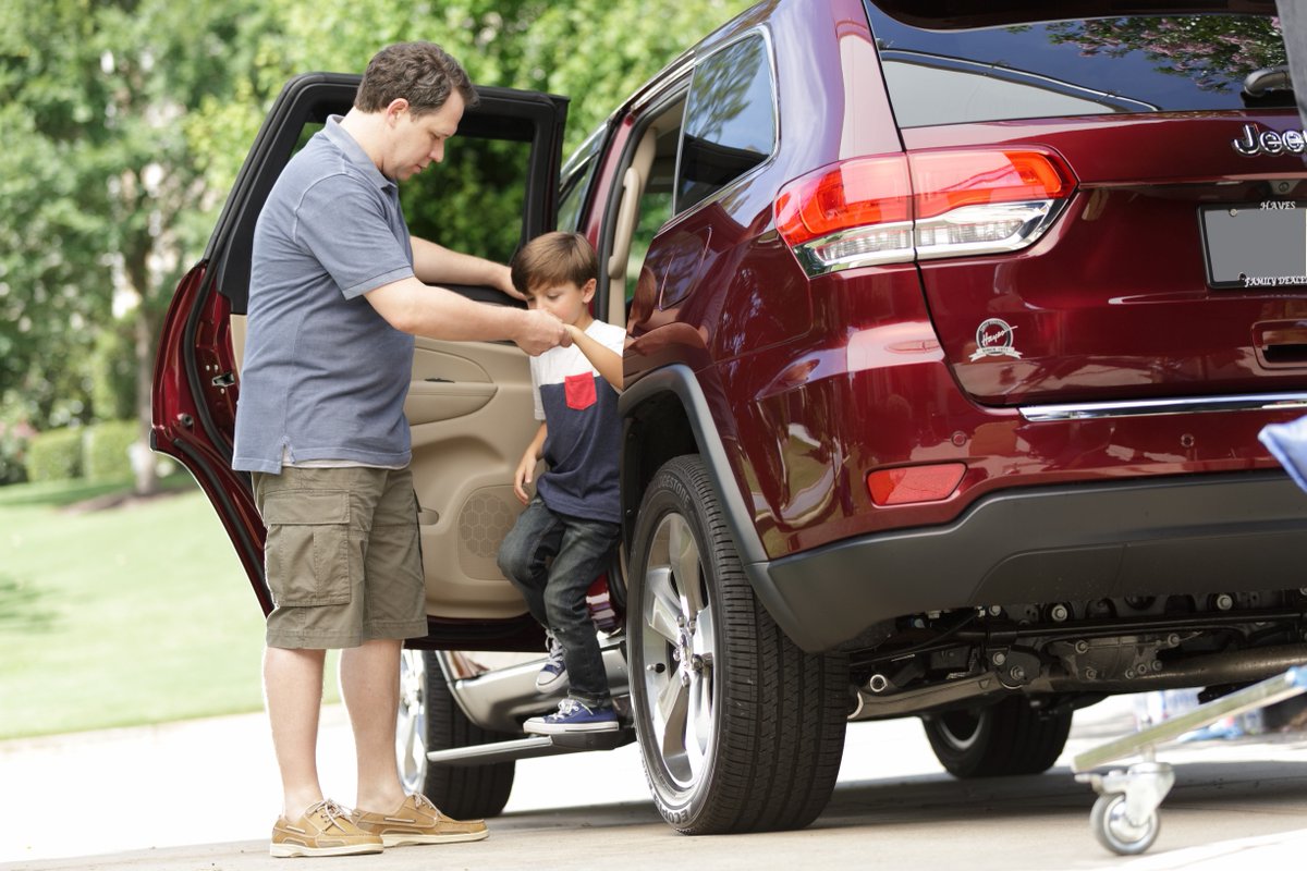
[[[808,825],[839,773],[847,659],[805,653],[758,603],[699,457],[659,469],[631,550],[631,705],[663,819],[685,834]]]

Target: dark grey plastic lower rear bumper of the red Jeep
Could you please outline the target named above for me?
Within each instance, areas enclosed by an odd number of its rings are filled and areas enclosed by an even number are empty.
[[[748,565],[806,650],[895,616],[968,606],[1307,586],[1307,495],[1281,471],[1042,487],[945,526]]]

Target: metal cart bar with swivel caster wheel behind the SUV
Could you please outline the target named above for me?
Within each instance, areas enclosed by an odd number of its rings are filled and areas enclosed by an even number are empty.
[[[1199,705],[1185,714],[1073,757],[1072,770],[1076,772],[1076,780],[1089,784],[1098,793],[1098,800],[1094,802],[1090,814],[1094,837],[1104,847],[1121,855],[1136,855],[1148,850],[1157,840],[1159,828],[1157,808],[1175,784],[1175,772],[1171,767],[1155,759],[1158,744],[1175,740],[1223,717],[1273,705],[1302,692],[1307,692],[1307,666],[1297,666],[1281,675]],[[1089,770],[1128,756],[1140,756],[1144,761],[1106,774]]]

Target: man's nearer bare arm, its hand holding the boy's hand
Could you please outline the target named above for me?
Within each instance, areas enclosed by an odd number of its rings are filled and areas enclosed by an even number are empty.
[[[510,340],[528,354],[542,354],[571,340],[562,323],[544,311],[476,303],[444,287],[401,278],[363,294],[397,330],[446,341]]]

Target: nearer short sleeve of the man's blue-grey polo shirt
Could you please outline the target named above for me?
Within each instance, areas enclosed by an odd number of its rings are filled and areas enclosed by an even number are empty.
[[[294,240],[345,299],[413,276],[409,251],[386,219],[383,196],[341,172],[316,182],[295,208]]]

